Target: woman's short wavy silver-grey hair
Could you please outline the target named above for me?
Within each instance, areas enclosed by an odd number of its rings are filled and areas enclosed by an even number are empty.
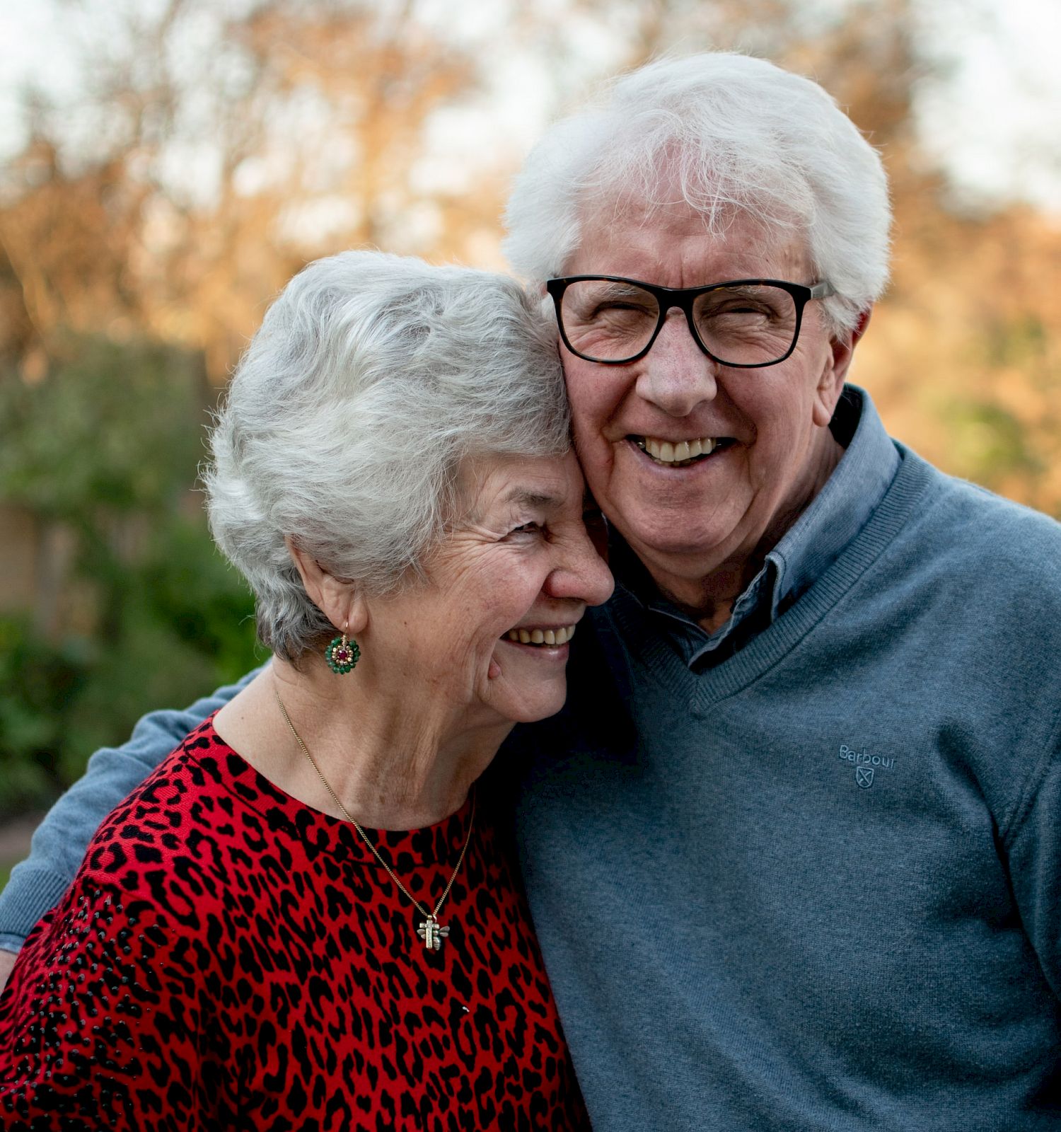
[[[466,461],[567,452],[555,328],[503,275],[347,251],[296,275],[232,379],[205,473],[210,529],[295,659],[333,626],[284,543],[386,593],[459,506]]]

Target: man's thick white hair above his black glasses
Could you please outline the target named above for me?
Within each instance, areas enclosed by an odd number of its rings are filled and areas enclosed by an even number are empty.
[[[877,151],[817,83],[731,52],[649,63],[551,127],[509,198],[508,259],[534,284],[562,275],[584,226],[624,203],[668,203],[675,186],[719,237],[740,214],[770,239],[802,234],[838,292],[825,302],[836,329],[885,289],[891,213]]]

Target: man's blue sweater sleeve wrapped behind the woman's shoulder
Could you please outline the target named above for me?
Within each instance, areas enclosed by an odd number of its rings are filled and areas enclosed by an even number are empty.
[[[29,856],[16,865],[0,893],[0,947],[18,951],[33,925],[66,892],[104,817],[207,715],[226,704],[261,669],[218,688],[184,711],[145,715],[120,747],[103,747],[85,775],[49,811],[33,835]]]

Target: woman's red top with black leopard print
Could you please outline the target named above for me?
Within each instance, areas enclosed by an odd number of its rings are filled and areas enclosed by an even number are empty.
[[[469,806],[379,833],[421,903]],[[440,951],[352,826],[207,720],[103,823],[0,998],[0,1126],[588,1127],[492,806]],[[371,832],[369,833],[371,837]]]

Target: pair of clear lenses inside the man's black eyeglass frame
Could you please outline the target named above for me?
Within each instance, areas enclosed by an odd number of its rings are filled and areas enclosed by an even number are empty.
[[[563,292],[560,317],[575,353],[590,361],[624,361],[648,345],[659,321],[659,303],[632,283],[579,280]],[[697,295],[692,320],[719,362],[756,366],[788,353],[797,314],[787,291],[745,284]]]

